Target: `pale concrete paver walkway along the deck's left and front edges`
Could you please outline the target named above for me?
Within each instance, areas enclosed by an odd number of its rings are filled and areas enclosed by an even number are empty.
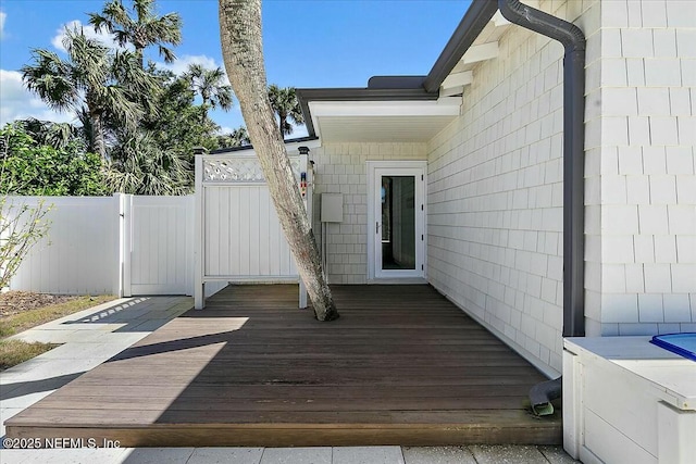
[[[4,421],[98,366],[192,306],[186,297],[111,301],[14,336],[63,343],[0,373],[0,435]],[[0,449],[0,463],[233,463],[233,464],[449,464],[572,463],[560,447],[470,446],[440,448],[138,448]]]

